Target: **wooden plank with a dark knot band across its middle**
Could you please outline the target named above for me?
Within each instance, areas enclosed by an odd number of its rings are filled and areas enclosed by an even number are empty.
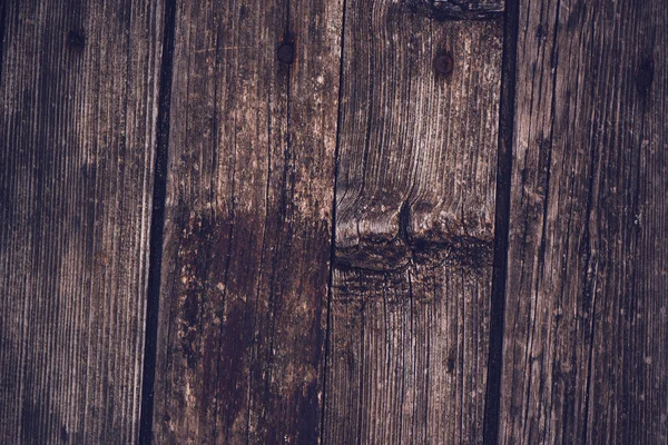
[[[324,443],[482,443],[502,20],[421,4],[346,2]]]

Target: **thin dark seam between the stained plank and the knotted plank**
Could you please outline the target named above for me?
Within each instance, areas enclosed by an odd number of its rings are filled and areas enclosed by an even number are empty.
[[[338,63],[338,100],[336,102],[336,142],[334,146],[334,178],[333,185],[334,192],[332,196],[332,237],[330,239],[330,276],[327,278],[327,301],[326,303],[326,324],[325,324],[325,354],[323,363],[323,397],[321,407],[321,427],[320,427],[320,443],[324,444],[325,439],[325,406],[327,400],[327,373],[330,366],[330,329],[332,318],[332,284],[334,283],[334,263],[336,259],[336,182],[338,180],[338,152],[341,147],[341,122],[343,120],[342,113],[342,99],[343,99],[343,50],[345,41],[345,7],[347,1],[343,0],[342,4],[342,17],[341,17],[341,43],[340,43],[340,63]]]

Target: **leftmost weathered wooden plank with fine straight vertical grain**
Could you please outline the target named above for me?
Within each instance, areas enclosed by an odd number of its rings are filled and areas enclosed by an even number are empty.
[[[1,9],[0,442],[134,443],[161,6]]]

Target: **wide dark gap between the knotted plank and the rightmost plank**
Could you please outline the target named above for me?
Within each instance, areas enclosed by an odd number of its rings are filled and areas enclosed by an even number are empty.
[[[508,275],[508,240],[510,230],[512,136],[517,85],[519,0],[507,1],[503,20],[492,300],[490,310],[488,380],[482,429],[484,444],[499,443],[501,373],[503,369],[503,329],[505,316],[505,279]]]

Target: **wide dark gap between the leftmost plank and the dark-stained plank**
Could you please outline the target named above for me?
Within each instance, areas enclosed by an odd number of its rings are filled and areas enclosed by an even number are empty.
[[[150,219],[148,289],[146,297],[146,337],[139,411],[139,444],[150,444],[153,437],[154,385],[158,339],[158,309],[160,306],[160,276],[163,231],[167,196],[167,160],[169,147],[169,110],[171,105],[171,75],[176,28],[176,0],[165,0],[163,30],[163,60],[158,87],[158,122],[154,170],[153,211]]]

